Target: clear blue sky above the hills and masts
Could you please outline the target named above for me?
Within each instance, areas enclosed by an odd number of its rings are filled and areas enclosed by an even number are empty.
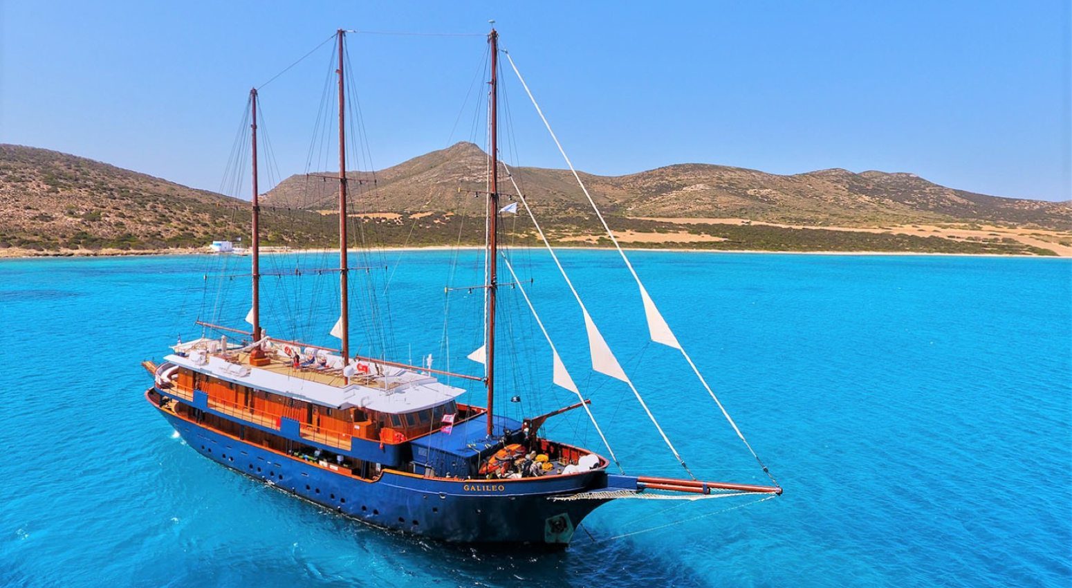
[[[495,18],[571,159],[592,173],[845,167],[1072,197],[1068,0],[0,0],[0,142],[210,190],[249,88],[334,29],[480,33]],[[451,128],[481,38],[349,43],[377,167],[470,138],[472,109]],[[304,171],[328,55],[263,91],[284,176]],[[512,74],[504,87],[518,161],[563,166]]]

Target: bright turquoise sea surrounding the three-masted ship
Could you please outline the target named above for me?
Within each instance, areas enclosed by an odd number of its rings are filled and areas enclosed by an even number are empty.
[[[243,278],[203,277],[225,262],[0,262],[0,586],[1072,585],[1068,260],[631,258],[786,491],[732,510],[744,502],[617,501],[563,553],[364,527],[185,447],[143,399],[150,379],[138,364],[178,335],[199,335],[198,315],[242,326]],[[690,467],[706,479],[765,480],[681,356],[646,341],[616,254],[563,259]],[[431,353],[435,367],[449,359],[477,372],[463,358],[479,343],[479,294],[443,291],[480,283],[476,253],[457,265],[446,251],[378,260],[388,269],[370,269],[364,285],[379,294],[355,297],[355,329],[374,334],[359,338],[366,351],[415,362]],[[522,252],[517,262],[626,471],[684,473],[628,388],[584,369],[579,313],[549,260]],[[248,259],[226,263],[214,269],[237,275]],[[313,261],[277,255],[267,269],[298,263]],[[331,342],[333,280],[268,280],[269,333]],[[217,304],[225,292],[234,299]],[[523,302],[504,298],[512,359],[498,406],[513,414],[567,403],[550,386],[550,355]],[[506,401],[515,394],[522,402]],[[606,454],[583,414],[559,418],[550,432]]]

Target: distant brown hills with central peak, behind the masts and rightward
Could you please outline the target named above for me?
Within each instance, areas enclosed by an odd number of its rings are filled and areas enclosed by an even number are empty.
[[[371,174],[361,197],[370,211],[451,211],[483,186],[487,156],[472,143],[414,158]],[[586,210],[567,170],[518,167],[525,196],[550,210]],[[905,173],[822,170],[779,176],[756,170],[687,163],[625,176],[581,174],[606,211],[628,217],[744,218],[813,226],[879,226],[986,222],[1072,230],[1072,205],[1006,199],[946,188]],[[459,193],[459,188],[463,190]],[[265,201],[329,208],[334,186],[292,176]],[[506,189],[504,191],[512,191]]]

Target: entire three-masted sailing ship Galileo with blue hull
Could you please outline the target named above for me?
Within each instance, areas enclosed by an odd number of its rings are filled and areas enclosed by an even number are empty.
[[[599,429],[590,411],[590,400],[582,397],[566,371],[513,267],[507,259],[500,259],[496,223],[502,214],[501,162],[496,124],[501,52],[494,29],[488,34],[491,162],[488,190],[482,193],[487,201],[487,283],[479,286],[486,303],[485,344],[470,355],[483,364],[483,374],[458,373],[432,369],[430,363],[415,366],[352,353],[347,299],[351,268],[347,267],[348,181],[344,134],[345,33],[343,30],[336,33],[339,54],[339,267],[332,268],[332,273],[339,276],[340,317],[331,332],[341,346],[328,348],[273,338],[267,336],[262,326],[258,97],[253,89],[250,92],[252,239],[249,247],[252,308],[247,317],[252,329],[197,321],[203,332],[211,329],[222,335],[210,338],[203,333],[197,339],[174,346],[173,352],[159,365],[144,364],[153,377],[152,385],[145,392],[146,400],[185,443],[220,465],[345,516],[447,542],[565,546],[585,516],[614,500],[696,500],[741,495],[773,498],[780,495],[781,488],[773,477],[770,477],[771,485],[755,485],[701,481],[691,474],[614,358],[546,237],[548,250],[580,305],[593,369],[628,383],[688,476],[627,475],[624,470],[613,473],[611,461],[616,464],[617,459],[609,444],[608,458],[586,447],[541,435],[541,426],[548,418],[576,409],[584,410]],[[517,71],[512,59],[510,64]],[[527,86],[525,89],[527,92]],[[531,214],[517,182],[512,177],[509,179],[516,195]],[[596,212],[598,215],[598,208]],[[536,226],[539,230],[538,224]],[[609,227],[608,232],[613,239]],[[614,242],[616,245],[616,240]],[[624,252],[622,256],[632,271]],[[576,403],[521,421],[496,414],[496,295],[500,288],[508,283],[500,279],[501,264],[512,276],[509,283],[521,288],[547,337],[553,352],[554,384],[576,394]],[[636,271],[632,275],[640,286],[653,339],[681,350],[703,386],[711,392],[658,313]],[[486,405],[461,402],[459,397],[466,391],[444,380],[482,385],[487,392]],[[711,396],[718,402],[713,392]],[[744,441],[720,402],[718,408]],[[601,430],[599,436],[606,442]],[[748,450],[751,451],[750,445]],[[760,466],[770,475],[762,461]]]

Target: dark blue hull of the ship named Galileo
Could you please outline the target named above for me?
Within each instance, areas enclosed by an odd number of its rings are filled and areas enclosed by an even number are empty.
[[[606,502],[550,499],[606,487],[602,471],[507,482],[436,480],[384,470],[375,481],[364,481],[158,410],[191,447],[213,461],[362,523],[431,539],[565,546],[581,520]]]

